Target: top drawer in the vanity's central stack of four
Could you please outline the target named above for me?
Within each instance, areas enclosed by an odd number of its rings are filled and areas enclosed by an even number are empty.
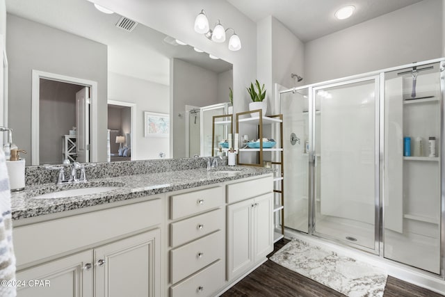
[[[215,186],[203,190],[172,195],[170,197],[172,220],[213,209],[224,204],[224,188]]]

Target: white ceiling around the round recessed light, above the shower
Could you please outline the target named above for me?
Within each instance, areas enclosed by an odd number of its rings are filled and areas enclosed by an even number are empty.
[[[278,19],[302,42],[346,29],[422,0],[227,0],[252,21],[269,15]],[[355,6],[349,19],[334,17],[337,9]]]

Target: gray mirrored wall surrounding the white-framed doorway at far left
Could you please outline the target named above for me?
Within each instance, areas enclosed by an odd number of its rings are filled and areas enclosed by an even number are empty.
[[[31,164],[31,72],[40,70],[97,81],[98,160],[106,161],[107,48],[49,26],[7,15],[9,126]]]

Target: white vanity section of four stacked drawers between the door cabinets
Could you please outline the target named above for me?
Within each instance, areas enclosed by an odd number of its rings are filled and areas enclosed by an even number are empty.
[[[225,190],[221,184],[169,195],[170,294],[213,296],[225,282]]]

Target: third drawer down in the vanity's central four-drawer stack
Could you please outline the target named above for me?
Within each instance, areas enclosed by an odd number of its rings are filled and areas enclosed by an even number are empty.
[[[170,251],[172,284],[223,259],[224,233],[218,231]]]

